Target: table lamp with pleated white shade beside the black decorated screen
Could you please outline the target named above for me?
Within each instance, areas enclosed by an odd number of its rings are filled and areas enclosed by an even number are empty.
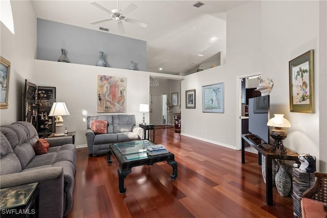
[[[61,116],[70,115],[64,102],[54,102],[48,116],[56,116],[56,133],[55,136],[65,135],[63,133],[63,119]]]

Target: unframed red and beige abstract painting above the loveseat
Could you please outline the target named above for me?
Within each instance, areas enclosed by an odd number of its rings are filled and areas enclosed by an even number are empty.
[[[126,77],[98,75],[98,113],[126,112]]]

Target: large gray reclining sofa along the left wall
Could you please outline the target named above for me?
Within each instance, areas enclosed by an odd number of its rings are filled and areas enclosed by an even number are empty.
[[[62,217],[73,205],[76,148],[72,137],[47,138],[48,153],[36,155],[34,126],[16,122],[0,127],[0,186],[39,182],[39,217]]]

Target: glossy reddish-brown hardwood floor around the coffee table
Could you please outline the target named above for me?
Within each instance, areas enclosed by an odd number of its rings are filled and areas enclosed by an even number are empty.
[[[257,155],[174,133],[155,130],[155,142],[175,154],[178,177],[167,162],[132,168],[126,193],[118,190],[118,163],[77,151],[74,204],[67,217],[294,217],[291,197],[273,190],[266,204]]]

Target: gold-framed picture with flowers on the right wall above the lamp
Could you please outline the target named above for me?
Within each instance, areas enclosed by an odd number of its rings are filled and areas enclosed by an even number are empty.
[[[314,51],[289,62],[290,111],[314,113]]]

